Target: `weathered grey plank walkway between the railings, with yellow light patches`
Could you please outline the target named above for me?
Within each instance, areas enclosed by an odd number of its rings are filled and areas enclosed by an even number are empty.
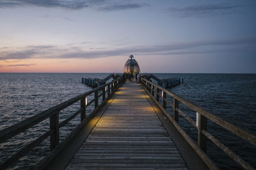
[[[67,169],[188,169],[142,87],[125,83]]]

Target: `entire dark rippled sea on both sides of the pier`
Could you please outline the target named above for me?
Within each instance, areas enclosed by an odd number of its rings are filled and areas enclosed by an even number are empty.
[[[0,73],[0,131],[26,120],[72,97],[83,94],[92,87],[81,83],[81,78],[105,78],[110,73]],[[256,74],[177,74],[153,73],[159,78],[183,78],[184,82],[168,90],[211,111],[223,120],[256,135]],[[172,101],[172,97],[168,97]],[[196,120],[196,113],[180,104],[180,110]],[[60,113],[60,122],[79,109],[79,103]],[[88,108],[93,110],[93,108]],[[172,108],[168,107],[172,115]],[[60,141],[79,123],[79,118],[69,122],[60,131]],[[256,147],[219,125],[208,120],[207,131],[228,146],[246,162],[256,167]],[[179,125],[195,141],[197,131],[187,120],[179,117]],[[45,120],[0,144],[0,162],[36,139],[49,129]],[[33,169],[50,152],[49,139],[28,152],[10,169]],[[211,141],[207,141],[207,154],[220,169],[241,169]]]

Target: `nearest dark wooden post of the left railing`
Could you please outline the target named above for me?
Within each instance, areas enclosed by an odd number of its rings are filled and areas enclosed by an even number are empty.
[[[59,111],[50,117],[51,134],[51,150],[53,150],[60,143],[59,134]]]

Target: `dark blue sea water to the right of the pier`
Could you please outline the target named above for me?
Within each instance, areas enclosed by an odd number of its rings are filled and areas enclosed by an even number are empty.
[[[159,78],[184,78],[184,83],[168,89],[211,111],[223,120],[256,135],[256,74],[155,74]],[[172,101],[172,97],[168,97]],[[180,110],[196,121],[196,112],[180,104]],[[172,108],[167,108],[172,115]],[[246,162],[256,167],[256,147],[211,121],[207,131]],[[182,116],[179,125],[197,142],[197,130]],[[221,169],[241,169],[211,141],[207,154]]]

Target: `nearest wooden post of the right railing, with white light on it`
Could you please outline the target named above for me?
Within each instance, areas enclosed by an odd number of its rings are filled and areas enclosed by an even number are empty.
[[[203,130],[207,129],[207,118],[205,118],[200,113],[198,114],[198,146],[206,152],[206,143],[207,143],[207,137],[202,134]]]

